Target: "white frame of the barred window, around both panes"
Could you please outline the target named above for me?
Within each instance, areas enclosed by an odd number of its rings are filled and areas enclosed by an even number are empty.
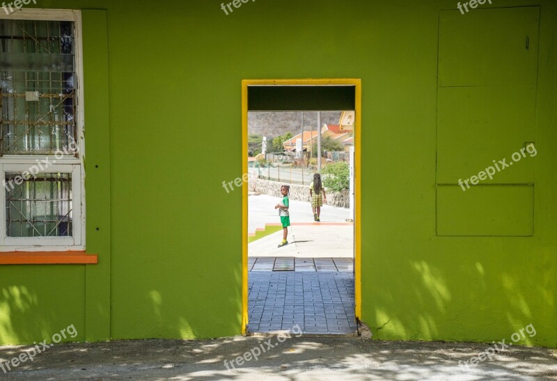
[[[80,10],[21,9],[10,15],[0,12],[0,19],[36,21],[69,21],[74,23],[74,70],[76,92],[76,143],[79,157],[65,155],[56,159],[54,155],[4,155],[0,156],[0,181],[6,172],[23,172],[37,167],[37,159],[49,159],[52,165],[39,173],[72,173],[72,236],[71,237],[8,237],[6,236],[6,188],[0,184],[0,252],[15,251],[83,251],[85,250],[85,115],[83,88],[83,38]]]

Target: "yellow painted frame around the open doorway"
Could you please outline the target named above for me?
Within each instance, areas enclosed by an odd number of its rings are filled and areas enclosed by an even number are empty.
[[[248,172],[249,86],[354,86],[354,298],[356,318],[361,318],[361,79],[243,79],[242,80],[242,173]],[[242,334],[248,324],[248,184],[242,185]]]

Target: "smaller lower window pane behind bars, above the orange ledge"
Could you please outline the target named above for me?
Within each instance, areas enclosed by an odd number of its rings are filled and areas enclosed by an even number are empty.
[[[72,236],[72,174],[6,172],[6,236]]]

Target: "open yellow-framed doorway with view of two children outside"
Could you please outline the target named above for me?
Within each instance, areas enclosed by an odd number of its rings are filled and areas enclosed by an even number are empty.
[[[358,79],[242,81],[244,333],[356,332],[360,95]]]

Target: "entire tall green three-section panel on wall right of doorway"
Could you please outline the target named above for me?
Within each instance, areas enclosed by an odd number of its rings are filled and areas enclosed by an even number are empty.
[[[439,13],[438,236],[533,234],[535,157],[512,154],[535,142],[539,22],[536,6]]]

